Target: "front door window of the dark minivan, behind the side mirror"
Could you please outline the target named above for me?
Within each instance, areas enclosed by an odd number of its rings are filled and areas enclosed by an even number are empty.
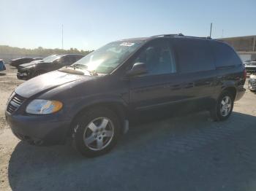
[[[152,42],[143,48],[133,63],[146,63],[148,74],[170,74],[176,72],[173,51],[167,42]]]

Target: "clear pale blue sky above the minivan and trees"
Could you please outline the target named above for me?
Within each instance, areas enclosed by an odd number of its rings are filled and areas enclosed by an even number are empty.
[[[0,0],[0,45],[95,50],[157,34],[256,35],[255,0]]]

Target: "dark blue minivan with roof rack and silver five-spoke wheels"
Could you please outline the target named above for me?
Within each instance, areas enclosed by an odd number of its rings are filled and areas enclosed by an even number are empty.
[[[94,157],[109,152],[143,112],[191,105],[227,120],[245,79],[241,59],[225,42],[183,34],[124,39],[18,86],[6,119],[18,139],[35,145],[71,139]]]

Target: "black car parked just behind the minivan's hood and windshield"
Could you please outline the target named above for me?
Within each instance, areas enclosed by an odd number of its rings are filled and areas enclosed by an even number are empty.
[[[54,55],[42,62],[31,62],[18,67],[18,79],[31,79],[49,71],[61,69],[83,58],[84,55]]]

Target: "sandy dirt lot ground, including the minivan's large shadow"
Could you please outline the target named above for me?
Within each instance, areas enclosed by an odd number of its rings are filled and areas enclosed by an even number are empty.
[[[3,72],[1,72],[3,73]],[[33,147],[12,135],[4,109],[21,82],[0,75],[0,190],[256,190],[256,95],[225,122],[207,112],[133,127],[108,155]],[[35,127],[36,128],[36,127]]]

